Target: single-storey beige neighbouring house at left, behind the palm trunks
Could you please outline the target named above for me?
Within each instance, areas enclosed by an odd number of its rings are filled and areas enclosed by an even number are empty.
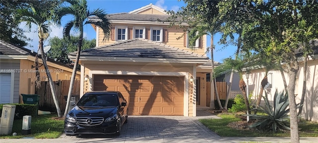
[[[36,52],[0,40],[0,104],[22,103],[21,94],[34,94],[35,56]],[[70,80],[73,68],[49,58],[47,64],[53,81]],[[41,57],[39,66],[40,80],[48,81]]]

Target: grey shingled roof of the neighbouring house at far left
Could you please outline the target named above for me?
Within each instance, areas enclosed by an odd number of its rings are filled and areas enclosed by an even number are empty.
[[[33,55],[31,50],[0,40],[0,55]],[[34,54],[35,55],[35,54]]]

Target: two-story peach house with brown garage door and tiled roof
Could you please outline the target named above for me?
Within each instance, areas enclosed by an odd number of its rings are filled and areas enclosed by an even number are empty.
[[[191,51],[183,29],[158,21],[169,16],[153,4],[109,14],[109,40],[103,40],[103,31],[92,25],[96,47],[82,51],[79,59],[81,95],[121,91],[130,115],[196,116],[197,105],[208,106],[206,73],[211,72],[211,64],[205,56],[207,36],[199,38],[196,50]],[[69,57],[74,60],[76,53]]]

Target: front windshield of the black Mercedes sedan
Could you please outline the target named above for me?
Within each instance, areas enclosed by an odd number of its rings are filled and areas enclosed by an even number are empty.
[[[78,106],[117,106],[117,104],[114,93],[88,93],[80,98]]]

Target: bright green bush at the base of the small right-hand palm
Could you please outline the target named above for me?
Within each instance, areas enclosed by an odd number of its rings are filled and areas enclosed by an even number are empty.
[[[248,101],[249,101],[249,105],[250,104],[250,98],[252,97],[252,94],[250,94],[248,96]],[[243,95],[240,95],[238,94],[235,98],[234,98],[234,104],[231,108],[229,108],[229,112],[232,112],[232,113],[237,113],[237,112],[245,112],[246,113],[246,104],[245,104],[245,101],[244,101],[244,97]]]

